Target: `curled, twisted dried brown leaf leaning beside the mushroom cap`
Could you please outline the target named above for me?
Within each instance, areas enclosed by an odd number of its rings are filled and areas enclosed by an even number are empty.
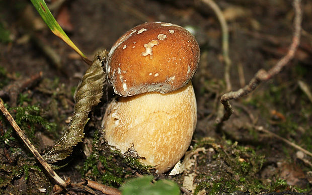
[[[102,66],[105,64],[107,51],[99,52],[92,66],[86,71],[78,85],[74,100],[75,107],[67,131],[44,158],[49,163],[62,160],[70,155],[72,147],[84,138],[84,128],[88,122],[91,109],[100,103],[102,89],[106,81],[106,73]]]

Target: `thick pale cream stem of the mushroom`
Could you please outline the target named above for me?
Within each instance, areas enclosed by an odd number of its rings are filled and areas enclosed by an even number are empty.
[[[146,92],[119,97],[103,119],[109,145],[125,153],[131,146],[146,165],[166,172],[184,155],[196,126],[196,100],[191,82],[165,94]]]

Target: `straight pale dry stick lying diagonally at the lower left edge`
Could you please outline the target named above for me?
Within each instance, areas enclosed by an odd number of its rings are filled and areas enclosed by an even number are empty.
[[[21,137],[21,139],[24,141],[26,146],[30,149],[30,151],[34,154],[34,156],[38,159],[38,161],[42,164],[42,166],[47,170],[49,175],[61,186],[65,187],[67,184],[66,182],[60,178],[56,172],[51,168],[51,166],[43,159],[43,157],[39,154],[35,146],[29,141],[29,139],[26,137],[24,132],[21,130],[21,128],[16,124],[15,120],[9,113],[9,111],[4,106],[3,102],[0,100],[0,110],[3,112],[5,117],[8,119],[12,127],[15,129],[17,134]]]

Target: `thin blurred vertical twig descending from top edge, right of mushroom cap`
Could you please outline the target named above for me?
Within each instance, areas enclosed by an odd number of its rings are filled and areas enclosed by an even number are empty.
[[[201,0],[203,3],[208,5],[215,13],[217,16],[219,23],[221,25],[221,31],[222,31],[222,55],[223,55],[223,60],[225,62],[225,67],[224,67],[224,80],[226,83],[226,91],[231,90],[231,82],[230,82],[230,76],[229,76],[229,70],[231,67],[231,60],[229,59],[228,56],[228,28],[227,24],[225,21],[225,18],[218,7],[216,3],[214,3],[212,0]]]

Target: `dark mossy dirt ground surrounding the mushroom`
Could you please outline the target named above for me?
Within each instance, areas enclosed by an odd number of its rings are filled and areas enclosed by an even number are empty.
[[[58,1],[47,2],[70,39],[90,59],[101,49],[109,50],[127,30],[153,21],[187,28],[201,50],[193,78],[198,122],[185,157],[190,169],[178,175],[156,174],[109,151],[99,132],[107,100],[113,96],[108,88],[89,115],[84,141],[57,163],[62,178],[73,182],[89,178],[118,188],[131,177],[153,174],[155,179],[175,181],[182,194],[311,193],[312,156],[257,130],[262,127],[312,152],[311,1],[301,2],[303,31],[294,59],[254,92],[231,101],[235,113],[222,128],[215,124],[225,92],[222,34],[207,5],[200,0],[73,0],[61,6]],[[259,69],[270,69],[286,54],[293,32],[292,1],[215,2],[228,24],[230,81],[232,90],[237,90]],[[68,126],[73,93],[88,65],[47,29],[30,1],[0,1],[0,11],[1,99],[44,154]],[[0,145],[0,193],[53,191],[53,179],[4,118],[0,118]]]

